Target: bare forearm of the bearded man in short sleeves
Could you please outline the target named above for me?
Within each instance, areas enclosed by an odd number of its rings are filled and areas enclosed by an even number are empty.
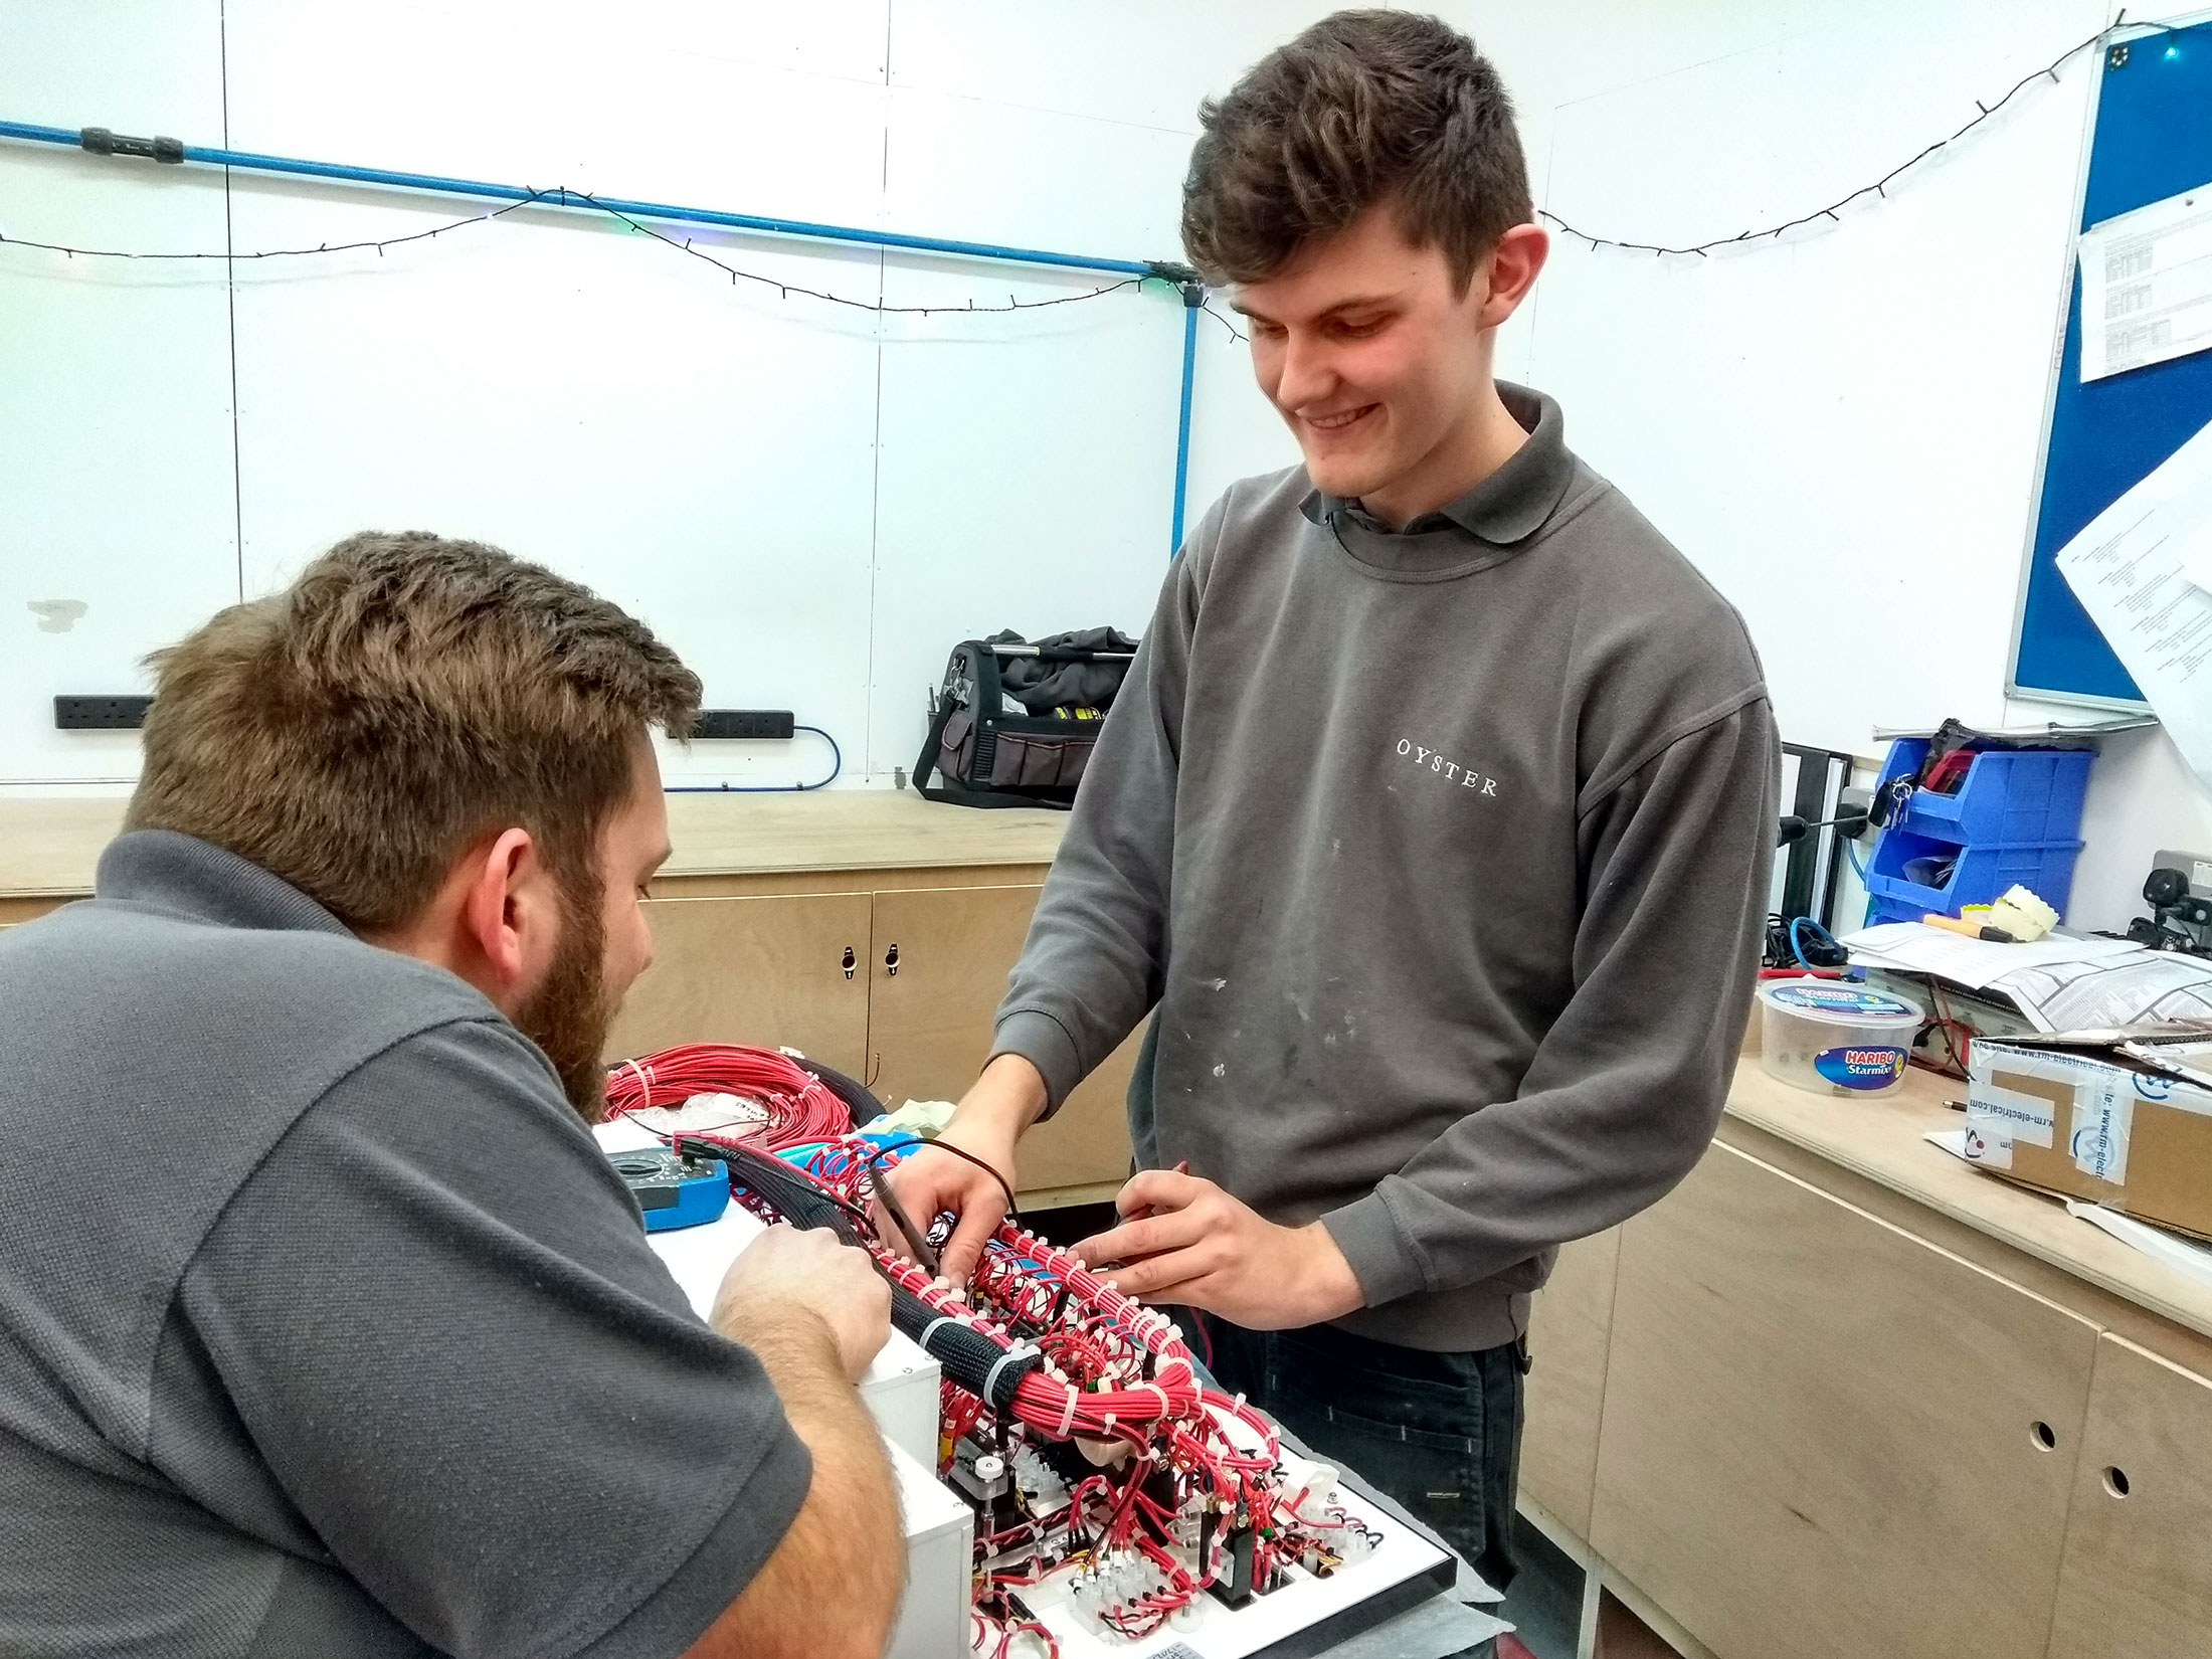
[[[883,1438],[818,1316],[739,1303],[717,1307],[714,1325],[759,1356],[814,1458],[814,1482],[774,1555],[686,1659],[872,1659],[889,1639],[907,1562]]]

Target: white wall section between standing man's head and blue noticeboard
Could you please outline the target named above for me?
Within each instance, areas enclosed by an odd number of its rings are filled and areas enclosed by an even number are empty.
[[[1555,108],[1546,206],[1686,243],[1887,173],[2095,27],[1958,4],[1807,29]],[[1887,201],[1710,259],[1562,237],[1533,378],[1752,626],[1796,741],[2002,717],[2004,641],[2066,250],[2086,62]]]

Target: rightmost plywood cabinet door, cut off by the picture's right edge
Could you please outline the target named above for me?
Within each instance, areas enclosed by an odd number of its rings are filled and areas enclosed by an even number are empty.
[[[2212,1652],[2212,1383],[2097,1343],[2051,1659]]]

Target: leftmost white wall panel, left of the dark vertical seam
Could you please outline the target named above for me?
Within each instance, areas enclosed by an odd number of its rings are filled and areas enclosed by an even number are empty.
[[[215,0],[9,0],[0,113],[219,137]],[[7,144],[0,230],[219,254],[223,179]],[[0,776],[133,774],[137,739],[53,730],[55,692],[142,690],[144,653],[237,597],[223,263],[0,246]]]

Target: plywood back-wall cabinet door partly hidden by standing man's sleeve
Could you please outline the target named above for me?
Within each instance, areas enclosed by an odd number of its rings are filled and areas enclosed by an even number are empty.
[[[869,949],[869,1088],[907,1099],[960,1099],[991,1053],[991,1015],[1022,953],[1042,887],[933,887],[876,894]],[[1024,1194],[1102,1197],[1128,1175],[1124,1095],[1137,1037],[1091,1073],[1048,1124],[1022,1137]]]

